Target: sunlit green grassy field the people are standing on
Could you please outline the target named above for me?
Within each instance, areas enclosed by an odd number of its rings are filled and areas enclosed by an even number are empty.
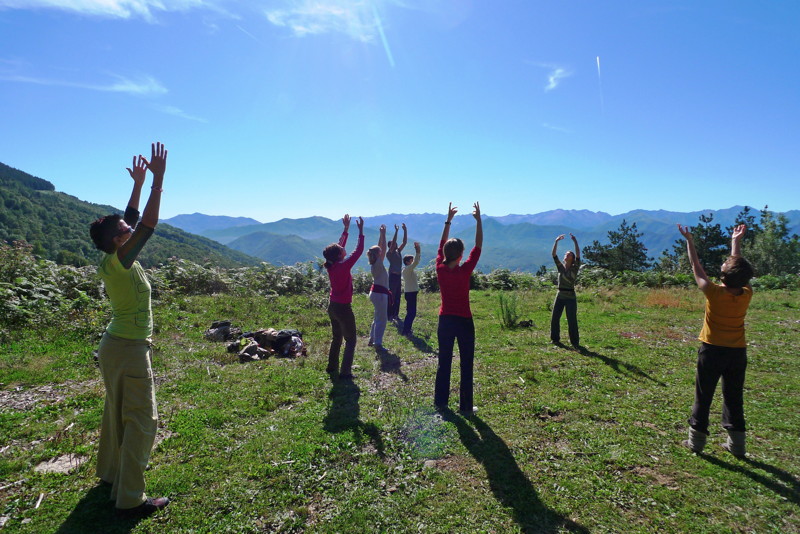
[[[372,309],[357,296],[350,382],[324,372],[324,296],[156,302],[160,428],[146,476],[173,502],[140,522],[115,519],[94,477],[95,340],[21,333],[0,355],[3,530],[800,532],[800,295],[753,299],[739,460],[719,447],[719,392],[707,454],[679,445],[699,291],[579,293],[583,352],[549,343],[553,294],[516,293],[533,326],[505,329],[498,294],[473,292],[479,412],[468,419],[432,406],[438,294],[420,295],[415,339],[388,328],[383,354],[366,346]],[[297,328],[308,356],[240,364],[203,339],[215,319]],[[65,454],[88,460],[34,471]]]

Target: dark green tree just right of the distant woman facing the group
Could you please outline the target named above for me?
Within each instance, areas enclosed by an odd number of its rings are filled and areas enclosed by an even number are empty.
[[[647,247],[639,240],[644,234],[636,231],[636,223],[628,226],[623,219],[616,230],[609,230],[608,244],[595,240],[583,248],[586,263],[612,272],[644,271],[650,268]]]

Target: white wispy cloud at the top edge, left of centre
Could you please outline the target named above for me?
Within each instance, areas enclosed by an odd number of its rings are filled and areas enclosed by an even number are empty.
[[[378,36],[372,4],[365,0],[300,0],[285,9],[267,9],[272,24],[295,35],[343,33],[362,42]]]

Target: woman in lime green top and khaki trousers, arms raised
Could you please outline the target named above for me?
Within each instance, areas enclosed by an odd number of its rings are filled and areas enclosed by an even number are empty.
[[[105,252],[99,274],[111,301],[112,319],[98,349],[100,371],[106,387],[97,475],[111,486],[118,515],[149,515],[169,504],[166,497],[145,492],[144,471],[150,459],[158,424],[151,368],[150,336],[153,314],[150,283],[136,261],[158,223],[167,151],[152,145],[148,162],[134,156],[133,191],[125,215],[100,217],[89,227],[95,246]],[[139,221],[139,197],[147,170],[153,173],[150,197]]]

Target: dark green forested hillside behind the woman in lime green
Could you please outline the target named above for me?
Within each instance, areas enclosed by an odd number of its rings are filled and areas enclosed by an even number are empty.
[[[57,192],[47,180],[0,163],[0,240],[26,241],[41,258],[70,265],[95,263],[100,252],[89,238],[89,224],[101,215],[119,212]],[[223,267],[258,261],[210,239],[161,224],[139,260],[148,267],[171,256]]]

